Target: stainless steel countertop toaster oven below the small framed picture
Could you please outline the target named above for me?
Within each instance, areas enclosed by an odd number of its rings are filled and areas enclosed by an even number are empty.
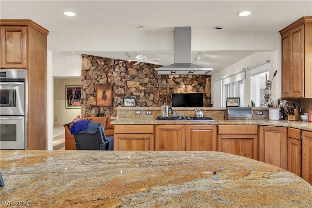
[[[253,110],[251,107],[226,107],[224,118],[228,120],[252,120]]]

